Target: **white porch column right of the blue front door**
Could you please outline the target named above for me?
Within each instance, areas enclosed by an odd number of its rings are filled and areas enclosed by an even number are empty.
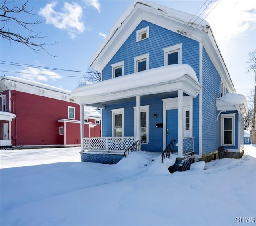
[[[183,155],[183,90],[178,90],[178,156]]]

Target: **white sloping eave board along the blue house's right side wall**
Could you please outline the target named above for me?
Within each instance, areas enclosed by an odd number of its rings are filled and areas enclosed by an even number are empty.
[[[210,28],[208,29],[208,33],[203,35],[203,46],[218,71],[220,78],[224,82],[224,85],[228,89],[228,92],[235,93],[234,84]]]

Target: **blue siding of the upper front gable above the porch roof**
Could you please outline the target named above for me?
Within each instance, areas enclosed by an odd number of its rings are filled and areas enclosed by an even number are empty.
[[[149,38],[136,42],[136,30],[149,26]],[[134,57],[150,53],[149,68],[164,66],[163,48],[182,44],[182,63],[189,64],[199,79],[199,42],[142,20],[102,70],[102,80],[112,78],[111,64],[124,61],[124,75],[134,73]]]

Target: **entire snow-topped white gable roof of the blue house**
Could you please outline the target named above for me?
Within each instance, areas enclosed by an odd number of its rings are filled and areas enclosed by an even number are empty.
[[[216,44],[209,23],[203,18],[170,9],[151,2],[132,3],[112,26],[110,33],[94,54],[91,67],[102,72],[111,58],[120,49],[130,34],[142,20],[156,24],[172,32],[201,42],[220,74],[228,92],[236,92],[222,54]],[[190,20],[193,18],[193,22]],[[196,20],[198,19],[198,20]],[[183,33],[184,27],[190,27],[190,34]]]

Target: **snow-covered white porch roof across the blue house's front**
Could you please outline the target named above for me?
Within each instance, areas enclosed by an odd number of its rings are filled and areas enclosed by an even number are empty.
[[[135,96],[156,97],[182,89],[196,97],[201,89],[196,72],[188,64],[174,64],[136,72],[72,90],[79,104],[104,108],[116,100],[132,100]]]

